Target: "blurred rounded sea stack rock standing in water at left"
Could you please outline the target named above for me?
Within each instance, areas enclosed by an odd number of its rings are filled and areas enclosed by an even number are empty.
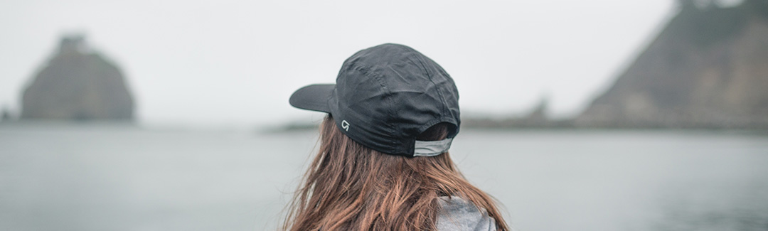
[[[22,119],[133,120],[134,101],[120,69],[81,35],[61,45],[22,95]]]

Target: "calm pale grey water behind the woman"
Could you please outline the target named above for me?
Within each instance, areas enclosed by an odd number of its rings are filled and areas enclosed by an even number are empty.
[[[313,132],[0,124],[0,230],[274,229]],[[518,230],[768,230],[768,137],[462,130]]]

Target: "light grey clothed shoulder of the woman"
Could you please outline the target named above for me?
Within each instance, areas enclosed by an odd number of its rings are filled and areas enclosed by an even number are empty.
[[[496,230],[495,220],[488,216],[485,209],[478,210],[475,204],[458,196],[440,196],[440,212],[437,217],[437,229],[440,231]]]

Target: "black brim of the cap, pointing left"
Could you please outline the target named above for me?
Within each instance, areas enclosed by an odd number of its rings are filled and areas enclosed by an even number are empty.
[[[290,105],[310,111],[330,113],[328,99],[335,87],[336,84],[312,84],[301,87],[290,96]]]

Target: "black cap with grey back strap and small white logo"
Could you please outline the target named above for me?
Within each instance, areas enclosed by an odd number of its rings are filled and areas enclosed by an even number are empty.
[[[367,48],[347,58],[336,84],[302,87],[290,104],[333,115],[356,142],[382,153],[435,156],[458,133],[458,90],[439,64],[404,45]],[[439,123],[453,125],[445,140],[416,136]]]

